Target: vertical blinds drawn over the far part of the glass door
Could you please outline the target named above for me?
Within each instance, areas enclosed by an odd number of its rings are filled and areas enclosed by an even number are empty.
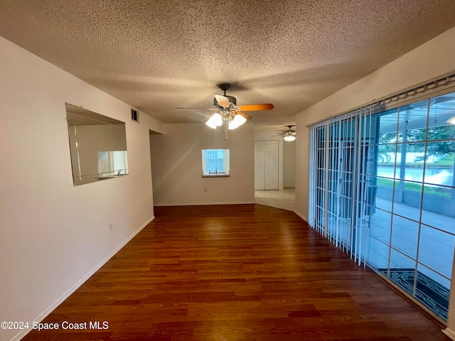
[[[373,209],[373,107],[311,126],[309,224],[360,264]]]

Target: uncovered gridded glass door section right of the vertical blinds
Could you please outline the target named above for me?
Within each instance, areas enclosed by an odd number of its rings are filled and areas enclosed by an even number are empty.
[[[455,243],[455,126],[446,121],[454,113],[455,95],[446,94],[378,114],[380,220],[367,257],[444,320]]]

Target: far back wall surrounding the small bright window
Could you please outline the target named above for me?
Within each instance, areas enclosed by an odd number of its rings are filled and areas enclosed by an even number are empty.
[[[151,135],[155,205],[255,202],[254,125],[228,133],[205,124],[165,124]],[[202,149],[230,149],[230,177],[202,178]]]

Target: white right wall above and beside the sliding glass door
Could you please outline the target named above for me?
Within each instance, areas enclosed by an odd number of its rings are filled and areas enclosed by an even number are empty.
[[[296,213],[308,217],[308,124],[455,71],[455,28],[410,51],[296,116]]]

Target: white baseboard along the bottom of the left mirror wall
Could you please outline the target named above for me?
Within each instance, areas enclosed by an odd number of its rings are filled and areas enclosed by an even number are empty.
[[[146,227],[147,224],[149,224],[149,222],[151,222],[152,220],[154,220],[155,217],[151,217],[149,218],[149,220],[147,220],[146,222],[144,222],[144,224],[141,225],[141,227],[139,227],[139,229],[137,229],[136,231],[134,231],[127,239],[124,240],[124,242],[122,242],[122,244],[120,244],[118,247],[116,247],[110,254],[107,255],[107,257],[105,259],[103,259],[102,261],[100,261],[100,263],[98,263],[92,270],[90,270],[84,277],[82,277],[79,281],[77,281],[75,283],[74,286],[72,286],[71,288],[68,289],[68,291],[66,291],[65,293],[63,293],[62,296],[60,296],[54,303],[52,303],[49,308],[45,309],[43,311],[43,313],[41,313],[40,315],[38,315],[38,317],[36,317],[33,321],[36,321],[36,322],[41,322],[42,320],[44,320],[44,318],[49,315],[55,308],[58,307],[58,305],[60,305],[60,303],[62,303],[63,301],[65,301],[68,297],[70,297],[70,295],[72,293],[74,293],[77,288],[79,288],[80,286],[82,286],[83,283],[85,283],[85,281],[87,281],[88,278],[90,278],[93,274],[95,274],[95,272],[97,272],[98,270],[100,270],[100,268],[105,265],[107,263],[107,261],[109,261],[109,259],[112,258],[112,256],[114,256],[114,254],[117,254],[118,251],[120,251],[126,244],[128,244],[128,242],[133,239],[136,234],[138,234],[139,232],[141,232],[142,229],[144,229],[144,227]],[[24,329],[24,330],[21,330],[21,332],[18,332],[18,334],[16,334],[12,339],[11,341],[19,341],[21,340],[24,336],[26,336],[28,334],[28,332],[31,332],[31,330],[33,329]]]

